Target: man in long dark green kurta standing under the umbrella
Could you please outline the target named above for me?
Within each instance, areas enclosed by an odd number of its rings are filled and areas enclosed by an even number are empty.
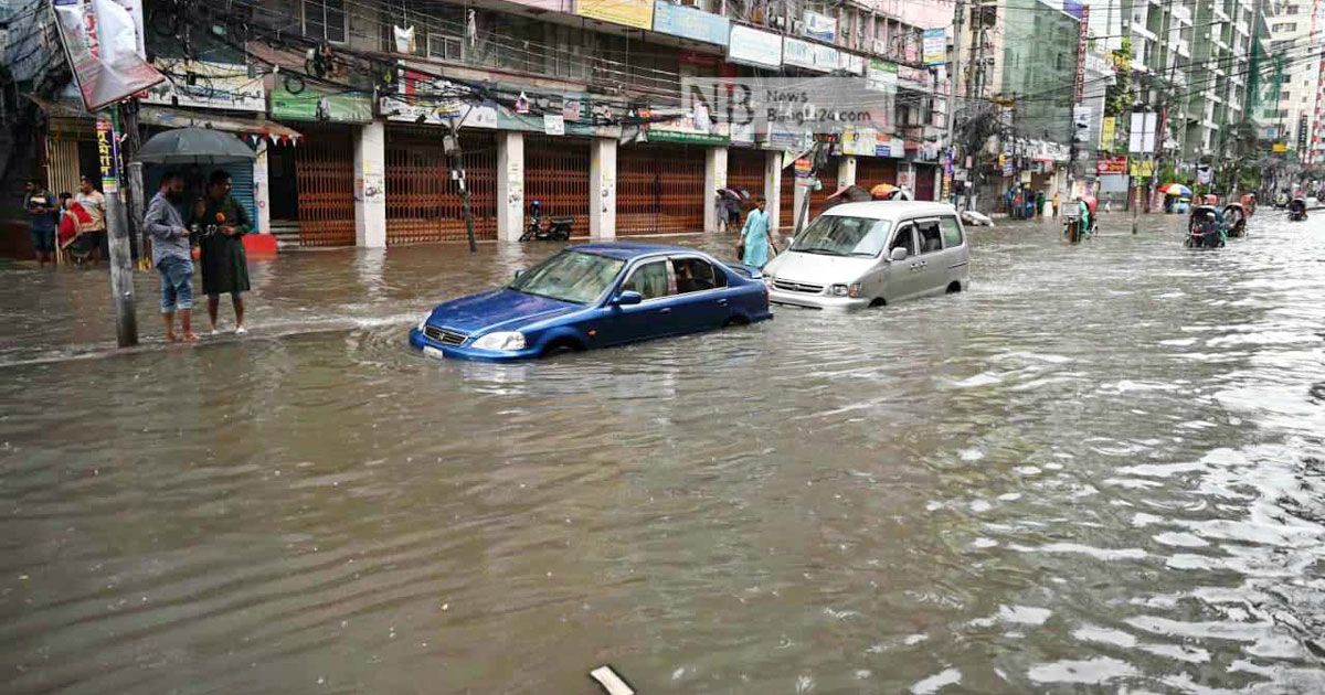
[[[207,196],[193,205],[193,224],[201,238],[197,245],[203,263],[203,294],[207,295],[207,318],[216,334],[216,314],[221,294],[231,295],[235,306],[235,335],[244,335],[244,293],[249,290],[248,255],[244,234],[252,229],[244,205],[231,196],[231,175],[213,171],[207,181]]]

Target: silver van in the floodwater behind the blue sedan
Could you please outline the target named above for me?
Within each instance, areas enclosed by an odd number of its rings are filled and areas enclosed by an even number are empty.
[[[863,308],[959,293],[970,246],[943,203],[876,201],[829,208],[763,269],[768,299],[811,308]]]

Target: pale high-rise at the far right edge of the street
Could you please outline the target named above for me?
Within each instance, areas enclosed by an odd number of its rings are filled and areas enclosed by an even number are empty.
[[[1302,163],[1312,160],[1312,146],[1318,142],[1318,53],[1325,42],[1313,30],[1320,5],[1312,0],[1276,0],[1267,3],[1264,9],[1271,42],[1268,90],[1261,99],[1263,134],[1284,143]]]

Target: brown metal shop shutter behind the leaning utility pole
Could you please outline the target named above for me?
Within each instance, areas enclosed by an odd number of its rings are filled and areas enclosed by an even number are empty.
[[[466,130],[465,181],[474,236],[497,238],[497,142],[492,132]],[[441,130],[387,128],[387,245],[465,238],[460,185],[450,177]]]

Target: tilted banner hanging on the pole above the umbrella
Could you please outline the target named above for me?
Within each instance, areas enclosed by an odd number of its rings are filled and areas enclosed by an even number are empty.
[[[166,79],[139,54],[142,20],[117,0],[52,0],[60,42],[89,111],[127,99]]]

